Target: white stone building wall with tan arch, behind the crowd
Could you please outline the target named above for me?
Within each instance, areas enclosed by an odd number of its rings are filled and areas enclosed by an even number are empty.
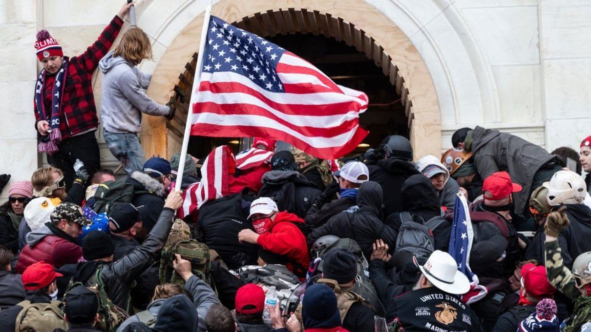
[[[0,0],[0,173],[24,180],[40,165],[33,91],[35,32],[48,29],[67,55],[90,45],[122,1]],[[199,45],[205,0],[142,0],[138,25],[154,60],[148,94],[165,103]],[[585,0],[219,0],[212,14],[269,35],[306,32],[343,40],[382,68],[401,95],[415,156],[450,147],[454,130],[480,125],[544,146],[577,149],[591,133],[591,2]],[[125,25],[126,29],[128,25]],[[100,74],[95,73],[99,105]],[[104,166],[116,160],[100,131]],[[178,137],[145,117],[147,156],[170,156]],[[7,190],[5,190],[7,191]],[[6,193],[4,194],[4,196]],[[3,197],[4,197],[3,196]]]

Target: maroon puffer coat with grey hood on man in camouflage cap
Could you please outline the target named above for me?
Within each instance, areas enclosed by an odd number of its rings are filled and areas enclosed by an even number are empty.
[[[82,247],[78,240],[51,223],[27,234],[27,245],[18,257],[17,272],[21,273],[36,262],[44,261],[56,268],[76,263],[82,258]]]

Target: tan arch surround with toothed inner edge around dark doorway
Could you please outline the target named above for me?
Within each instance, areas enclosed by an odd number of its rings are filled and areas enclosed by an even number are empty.
[[[261,37],[300,32],[335,38],[355,47],[382,68],[402,97],[415,156],[440,153],[440,110],[436,91],[423,59],[407,36],[365,2],[344,0],[339,2],[339,6],[323,3],[315,3],[314,9],[302,6],[298,9],[269,10],[267,8],[273,6],[270,0],[244,5],[222,0],[214,6],[212,15],[233,21],[234,25]],[[327,7],[330,11],[320,11],[320,7]],[[248,15],[242,16],[243,12]],[[167,96],[163,92],[170,91],[176,84],[183,90],[190,88],[202,24],[203,13],[171,42],[154,70],[148,90],[151,97],[164,102]],[[189,63],[187,59],[191,59]],[[175,77],[180,68],[185,68],[184,73]],[[186,107],[179,113],[181,117],[183,113],[186,116]],[[162,118],[147,117],[142,127],[142,145],[146,155],[170,156],[177,152],[181,144],[179,133],[182,133],[178,129],[183,126],[184,120],[174,119],[167,123]]]

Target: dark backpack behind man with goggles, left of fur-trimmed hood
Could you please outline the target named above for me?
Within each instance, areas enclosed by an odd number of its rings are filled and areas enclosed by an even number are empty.
[[[126,180],[111,180],[99,184],[95,192],[95,212],[109,213],[113,203],[131,203],[135,195],[150,193],[145,190],[135,191],[134,185]]]

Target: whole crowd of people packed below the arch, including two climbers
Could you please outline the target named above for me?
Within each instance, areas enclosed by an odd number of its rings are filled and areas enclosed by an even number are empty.
[[[142,113],[175,113],[145,94],[149,38],[109,51],[130,6],[77,57],[37,34],[51,166],[0,206],[2,331],[591,331],[591,136],[548,153],[476,126],[442,156],[391,135],[340,160],[255,137],[179,176],[138,140]],[[100,168],[97,68],[126,176]]]

